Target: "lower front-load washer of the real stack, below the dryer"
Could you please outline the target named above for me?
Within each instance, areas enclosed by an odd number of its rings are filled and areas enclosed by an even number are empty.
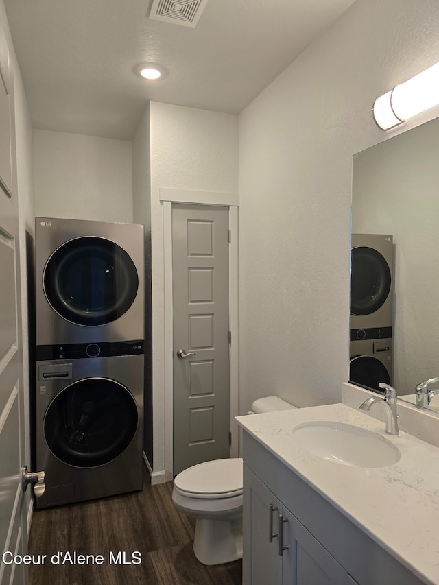
[[[37,508],[141,490],[143,344],[65,345],[36,363],[35,398]]]

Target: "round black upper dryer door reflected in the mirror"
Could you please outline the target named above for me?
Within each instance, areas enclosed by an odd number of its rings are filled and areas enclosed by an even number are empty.
[[[374,248],[351,251],[351,315],[370,315],[388,298],[392,276],[388,263]]]

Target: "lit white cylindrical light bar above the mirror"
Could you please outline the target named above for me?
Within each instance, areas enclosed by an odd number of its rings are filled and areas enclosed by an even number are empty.
[[[373,117],[383,130],[439,104],[439,63],[380,95],[373,104]]]

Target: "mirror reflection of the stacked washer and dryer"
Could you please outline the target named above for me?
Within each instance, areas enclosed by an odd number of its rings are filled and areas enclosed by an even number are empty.
[[[392,235],[353,234],[349,381],[383,392],[392,384]]]

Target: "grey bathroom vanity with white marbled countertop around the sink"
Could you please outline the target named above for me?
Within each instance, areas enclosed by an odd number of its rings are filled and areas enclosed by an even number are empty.
[[[241,416],[244,585],[439,583],[439,449],[346,405]],[[297,444],[298,426],[372,431],[401,453],[347,466]]]

